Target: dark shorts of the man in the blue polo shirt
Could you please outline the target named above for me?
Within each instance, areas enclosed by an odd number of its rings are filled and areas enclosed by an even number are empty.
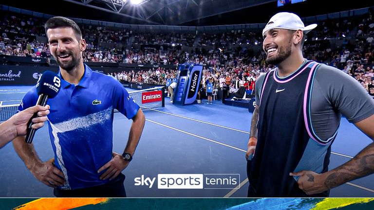
[[[81,188],[76,190],[60,190],[55,188],[53,194],[56,197],[126,197],[125,175],[119,174],[115,179],[103,185]]]

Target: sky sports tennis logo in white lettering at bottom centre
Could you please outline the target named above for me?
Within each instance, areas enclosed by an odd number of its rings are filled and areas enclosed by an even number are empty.
[[[155,186],[156,177],[135,177],[135,186]],[[158,189],[239,189],[239,174],[159,174]]]

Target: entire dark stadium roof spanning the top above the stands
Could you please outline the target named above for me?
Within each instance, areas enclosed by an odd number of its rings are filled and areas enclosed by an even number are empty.
[[[304,0],[278,7],[277,0],[0,0],[0,7],[10,12],[37,17],[64,16],[92,21],[134,25],[225,26],[264,24],[278,12],[293,12],[302,18],[326,16],[353,9],[370,7],[373,0],[342,4],[329,0]],[[12,9],[7,8],[12,7]],[[21,11],[26,10],[26,11]],[[346,13],[349,16],[353,15]]]

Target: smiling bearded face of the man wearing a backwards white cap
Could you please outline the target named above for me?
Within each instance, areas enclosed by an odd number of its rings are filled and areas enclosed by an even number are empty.
[[[267,54],[266,62],[278,65],[291,55],[292,33],[285,29],[270,29],[263,36],[262,49]]]

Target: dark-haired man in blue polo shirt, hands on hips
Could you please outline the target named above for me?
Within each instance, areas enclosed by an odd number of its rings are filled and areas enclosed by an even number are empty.
[[[41,162],[24,137],[13,142],[26,167],[57,197],[125,197],[125,175],[143,131],[145,117],[123,86],[83,64],[86,42],[73,20],[50,18],[45,23],[51,53],[61,76],[61,89],[48,101],[49,135],[55,157]],[[37,103],[36,88],[19,110]],[[112,152],[113,109],[132,119],[122,155]]]

